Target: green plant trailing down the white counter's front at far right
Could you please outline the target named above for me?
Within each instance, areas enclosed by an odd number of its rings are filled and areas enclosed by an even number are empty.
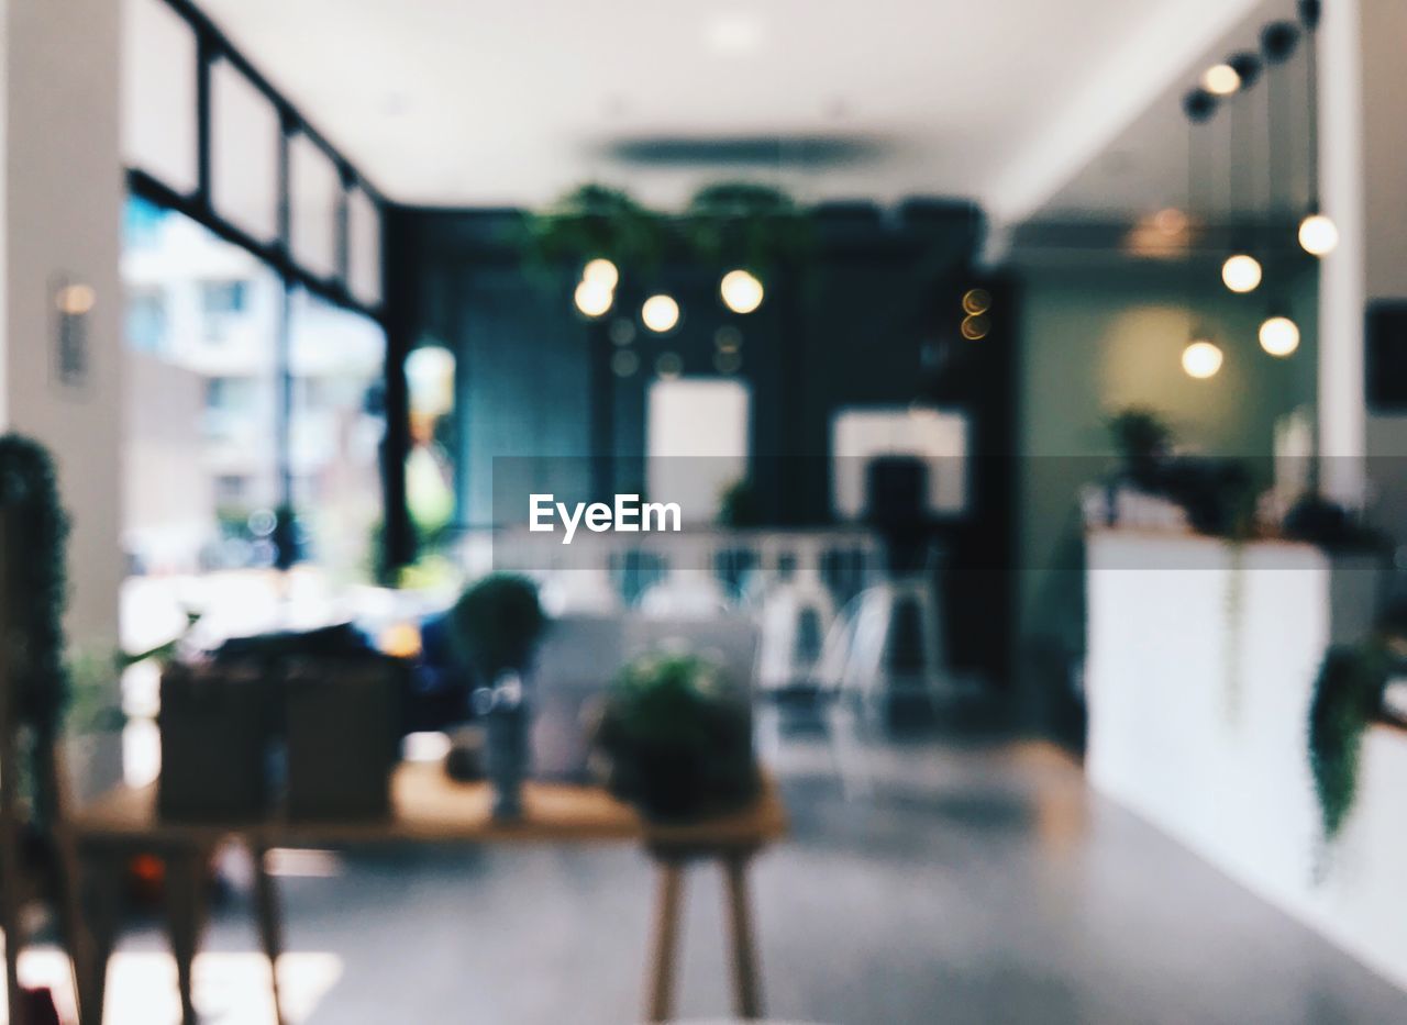
[[[1310,704],[1310,771],[1325,845],[1338,837],[1358,793],[1363,730],[1382,706],[1390,659],[1380,643],[1334,645],[1324,655]]]

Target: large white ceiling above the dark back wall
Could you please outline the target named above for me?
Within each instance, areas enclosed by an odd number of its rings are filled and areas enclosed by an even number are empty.
[[[540,204],[587,179],[682,201],[719,166],[651,136],[830,136],[877,155],[746,169],[805,200],[1044,204],[1256,0],[198,0],[393,200]],[[787,152],[785,149],[782,152]]]

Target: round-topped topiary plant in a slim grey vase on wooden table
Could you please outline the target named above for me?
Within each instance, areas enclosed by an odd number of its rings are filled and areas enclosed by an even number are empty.
[[[537,586],[512,574],[485,576],[460,596],[450,623],[460,659],[474,675],[474,714],[487,724],[494,817],[518,818],[529,755],[523,681],[547,626]]]

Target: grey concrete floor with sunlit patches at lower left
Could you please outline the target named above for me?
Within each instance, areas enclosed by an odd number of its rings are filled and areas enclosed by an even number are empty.
[[[872,768],[874,792],[847,800],[823,745],[782,748],[795,835],[754,876],[774,1018],[1407,1022],[1407,994],[1088,793],[1054,748],[900,744]],[[635,851],[405,849],[304,868],[333,873],[283,880],[284,980],[311,1025],[637,1019],[653,887]],[[727,1011],[720,918],[719,880],[699,869],[682,1017]],[[222,953],[252,945],[235,897],[197,969],[212,1022],[266,1014],[250,1010],[256,959]],[[160,986],[134,974],[159,949],[152,925],[128,934],[110,1021],[162,1021]]]

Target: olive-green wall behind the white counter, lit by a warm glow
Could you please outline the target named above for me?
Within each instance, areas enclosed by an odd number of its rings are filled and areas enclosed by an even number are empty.
[[[1301,330],[1285,360],[1256,342],[1273,277],[1242,297],[1220,285],[1214,264],[1021,273],[1016,665],[1033,714],[1048,713],[1041,689],[1083,651],[1078,502],[1112,463],[1104,418],[1130,405],[1158,409],[1180,449],[1252,460],[1268,484],[1276,418],[1313,404],[1317,270],[1297,269],[1285,288]],[[1206,381],[1180,366],[1193,301],[1225,354]]]

